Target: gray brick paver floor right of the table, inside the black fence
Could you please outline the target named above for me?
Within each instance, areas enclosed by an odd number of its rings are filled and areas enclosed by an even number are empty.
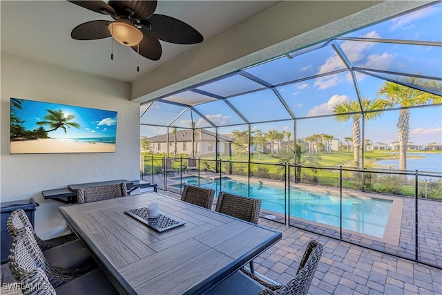
[[[159,192],[180,198],[177,193]],[[311,282],[311,295],[442,294],[442,269],[273,220],[260,218],[258,223],[282,232],[282,240],[253,260],[257,272],[279,283],[288,283],[294,277],[307,242],[314,239],[324,245],[324,253]]]

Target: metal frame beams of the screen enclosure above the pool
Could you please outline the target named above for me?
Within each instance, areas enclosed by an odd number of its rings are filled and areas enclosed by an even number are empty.
[[[418,8],[416,10],[412,10],[411,12],[407,13],[414,13],[416,11],[419,11],[421,9],[425,8],[436,8],[441,9],[441,3],[430,3],[426,6],[422,6],[421,8]],[[394,19],[394,18],[392,18]],[[440,17],[439,17],[440,19]],[[374,25],[376,26],[376,24]],[[367,30],[367,28],[363,28],[362,30]],[[359,31],[359,30],[358,30]],[[345,42],[353,42],[355,44],[383,44],[385,46],[390,46],[390,44],[398,44],[397,46],[427,46],[429,48],[436,48],[435,50],[441,50],[442,48],[442,40],[437,41],[422,41],[422,40],[413,40],[413,39],[390,39],[390,38],[380,38],[380,37],[372,37],[367,35],[367,37],[355,37],[357,31],[349,32],[347,35],[343,35],[341,37],[336,37],[331,40],[324,41],[320,44],[314,44],[313,46],[309,46],[308,48],[303,48],[301,50],[294,50],[291,53],[287,53],[285,55],[281,55],[279,57],[275,57],[274,59],[270,61],[264,61],[261,64],[256,64],[253,66],[249,66],[248,68],[243,68],[240,70],[237,70],[236,72],[229,73],[228,75],[223,75],[221,77],[218,77],[216,79],[212,79],[209,82],[204,82],[201,84],[197,84],[195,86],[191,86],[189,88],[182,89],[181,91],[176,91],[175,93],[171,93],[169,95],[164,95],[162,97],[157,97],[157,99],[154,99],[151,102],[148,102],[142,106],[142,111],[140,113],[141,116],[141,125],[144,126],[164,126],[168,129],[168,133],[170,133],[170,129],[176,126],[180,129],[186,129],[191,127],[189,126],[180,126],[177,125],[177,122],[184,113],[190,113],[190,117],[192,122],[196,121],[194,120],[194,117],[198,117],[198,120],[204,121],[203,127],[198,127],[192,124],[193,129],[205,129],[205,128],[214,128],[217,133],[218,138],[218,128],[219,127],[235,127],[235,126],[242,126],[245,125],[247,128],[251,129],[252,124],[262,124],[262,123],[270,123],[270,122],[281,122],[281,121],[287,121],[293,120],[294,129],[292,130],[292,133],[294,135],[294,142],[297,142],[298,137],[297,135],[297,124],[298,120],[309,120],[311,118],[321,118],[321,117],[334,117],[336,115],[334,114],[327,114],[327,115],[311,115],[311,116],[296,116],[297,114],[290,108],[289,104],[287,104],[287,101],[282,96],[281,92],[278,90],[278,88],[282,88],[287,85],[294,85],[298,83],[305,83],[307,81],[311,81],[312,79],[327,79],[327,77],[331,77],[331,75],[340,75],[340,74],[346,74],[352,77],[352,82],[354,86],[354,91],[356,93],[356,99],[358,101],[358,104],[362,106],[362,99],[363,94],[361,94],[361,90],[359,87],[359,82],[357,79],[357,75],[367,75],[369,77],[375,78],[375,79],[382,79],[385,82],[394,82],[397,84],[401,84],[403,86],[407,86],[416,90],[420,91],[426,91],[427,93],[431,93],[432,95],[442,95],[441,91],[441,82],[442,82],[442,73],[436,73],[436,75],[421,75],[416,73],[404,73],[398,70],[385,70],[385,69],[379,69],[379,68],[366,68],[363,66],[354,66],[354,63],[351,61],[351,57],[347,55],[346,49],[345,49]],[[436,35],[439,34],[439,32],[436,32]],[[357,34],[356,34],[357,35]],[[442,39],[440,36],[437,36],[436,38]],[[296,59],[296,57],[302,56],[305,57],[305,55],[311,55],[318,53],[320,50],[325,50],[325,48],[332,48],[334,50],[334,54],[339,58],[339,61],[341,63],[341,66],[337,66],[335,68],[332,68],[332,70],[327,71],[326,73],[315,73],[314,75],[308,75],[305,77],[298,77],[296,79],[290,79],[287,81],[283,81],[276,84],[271,84],[268,81],[265,81],[264,79],[260,79],[260,77],[257,77],[256,75],[252,75],[250,72],[253,71],[253,69],[256,69],[256,67],[265,65],[267,63],[271,63],[277,60],[282,59]],[[358,61],[356,60],[356,64],[358,64]],[[439,74],[439,75],[437,75]],[[403,79],[423,79],[423,80],[432,80],[436,82],[436,84],[439,83],[439,88],[428,88],[425,86],[419,86],[416,84],[409,84],[407,81],[403,80],[397,80],[395,77],[402,77]],[[244,83],[240,84],[240,86],[237,86],[239,89],[236,90],[236,93],[232,93],[231,89],[222,88],[222,87],[216,87],[217,84],[220,86],[226,84],[229,80],[242,80]],[[246,82],[247,81],[247,82]],[[208,91],[211,90],[211,91]],[[251,95],[253,93],[258,93],[260,91],[267,91],[271,92],[274,95],[274,99],[276,99],[277,102],[280,103],[279,107],[282,107],[287,111],[287,114],[285,114],[285,117],[281,119],[271,119],[271,120],[251,120],[250,117],[244,116],[244,114],[236,108],[236,106],[233,104],[236,97],[240,96],[247,96]],[[206,115],[202,113],[202,111],[199,111],[198,108],[203,108],[203,104],[200,104],[201,102],[205,102],[204,105],[206,107],[213,105],[213,102],[224,102],[224,104],[231,110],[231,114],[236,117],[236,121],[231,124],[218,124],[218,122],[215,122],[215,120],[212,120],[212,118],[209,115]],[[169,104],[177,107],[181,107],[182,111],[175,116],[173,116],[173,120],[169,124],[152,124],[149,122],[143,122],[144,118],[143,115],[149,111],[150,108],[154,108],[155,104],[157,106],[161,104]],[[219,105],[219,104],[218,104]],[[383,109],[383,112],[387,111],[397,111],[401,109],[412,109],[412,108],[427,108],[427,107],[433,107],[433,106],[442,106],[442,103],[436,103],[436,104],[423,104],[418,106],[394,106],[391,108]],[[362,115],[362,138],[361,142],[364,142],[365,140],[365,115],[367,113],[370,113],[370,111],[365,111],[363,108],[361,108],[361,111],[358,111],[357,113]],[[189,115],[188,115],[189,117]],[[214,118],[215,119],[215,118]],[[250,133],[249,133],[250,138]],[[218,145],[219,140],[217,140],[216,144],[216,153],[215,155],[218,155]],[[169,144],[168,144],[169,146]],[[364,153],[365,149],[361,150],[362,152],[362,167],[364,167]],[[249,150],[249,160],[250,160],[250,150]],[[295,155],[296,158],[296,155]]]

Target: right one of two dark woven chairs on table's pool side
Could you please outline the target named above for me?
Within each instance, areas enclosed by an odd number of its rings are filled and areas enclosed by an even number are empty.
[[[220,191],[215,211],[258,224],[261,211],[261,200],[245,198]],[[249,267],[253,274],[255,272],[253,260],[249,262]]]

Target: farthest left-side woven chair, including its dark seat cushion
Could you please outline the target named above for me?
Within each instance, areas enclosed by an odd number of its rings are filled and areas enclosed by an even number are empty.
[[[35,242],[37,242],[37,245],[41,251],[43,251],[44,257],[48,260],[48,263],[63,268],[95,265],[95,261],[92,256],[90,256],[88,249],[84,247],[80,240],[64,242],[63,244],[41,240],[41,238],[35,234],[25,211],[21,209],[12,211],[6,226],[12,237],[24,234],[26,231],[32,234]]]

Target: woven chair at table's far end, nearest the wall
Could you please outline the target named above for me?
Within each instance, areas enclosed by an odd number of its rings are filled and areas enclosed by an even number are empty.
[[[102,187],[84,187],[77,189],[78,203],[97,202],[128,196],[126,183],[104,185]]]

